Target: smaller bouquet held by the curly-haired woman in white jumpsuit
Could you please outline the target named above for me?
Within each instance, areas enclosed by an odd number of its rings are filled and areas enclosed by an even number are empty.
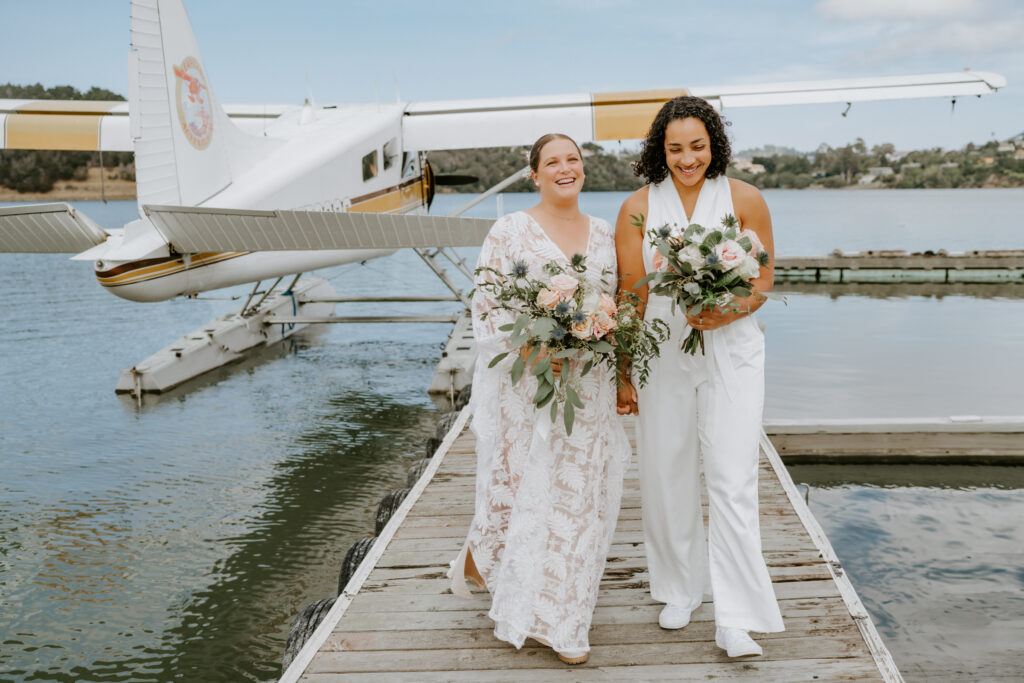
[[[643,227],[643,216],[631,216],[633,224]],[[653,272],[637,283],[648,285],[653,294],[672,299],[672,310],[680,306],[687,315],[721,307],[738,310],[733,299],[753,292],[751,281],[767,265],[771,256],[754,230],[740,230],[735,216],[726,215],[720,227],[709,229],[696,223],[673,234],[669,225],[648,232],[654,247]],[[703,353],[703,331],[691,330],[683,341],[683,351]]]

